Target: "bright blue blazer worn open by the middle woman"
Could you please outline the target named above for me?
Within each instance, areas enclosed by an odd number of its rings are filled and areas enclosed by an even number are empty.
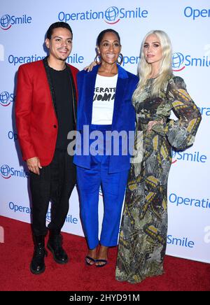
[[[88,135],[83,134],[84,125],[91,125],[92,122],[92,103],[94,97],[94,85],[99,66],[94,66],[91,72],[80,71],[77,74],[78,85],[78,108],[77,108],[77,130],[80,132],[80,140],[76,141],[76,155],[73,162],[85,169],[90,169],[90,154],[83,153],[83,146],[88,141]],[[116,97],[113,108],[113,122],[111,131],[134,132],[135,129],[135,111],[132,106],[132,94],[137,87],[139,78],[134,74],[125,71],[118,66],[118,80],[116,85]],[[120,139],[121,140],[121,139]],[[130,141],[134,141],[133,139]],[[79,143],[80,142],[80,143]],[[89,141],[88,141],[89,143]],[[112,143],[113,144],[113,143]],[[81,147],[80,147],[81,146]],[[120,142],[120,154],[109,156],[109,173],[125,171],[130,169],[130,154],[122,154],[122,143]],[[82,155],[78,152],[82,151]]]

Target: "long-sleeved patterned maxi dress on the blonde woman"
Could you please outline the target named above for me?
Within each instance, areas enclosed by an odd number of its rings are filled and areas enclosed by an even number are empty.
[[[169,78],[160,97],[150,98],[153,81],[148,80],[144,92],[133,101],[137,113],[135,148],[141,155],[137,147],[142,138],[137,131],[142,131],[143,157],[130,169],[116,266],[116,279],[130,283],[163,273],[171,150],[191,146],[201,121],[182,78]],[[169,119],[172,110],[178,120]],[[154,125],[148,133],[147,125],[152,120],[163,120],[163,124]]]

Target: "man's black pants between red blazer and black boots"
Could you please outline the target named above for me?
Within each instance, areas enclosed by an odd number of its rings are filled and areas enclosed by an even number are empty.
[[[45,218],[51,201],[51,221],[48,228],[59,234],[69,211],[69,198],[76,184],[76,166],[73,157],[55,150],[52,162],[40,169],[40,175],[31,173],[32,230],[36,236],[45,235]]]

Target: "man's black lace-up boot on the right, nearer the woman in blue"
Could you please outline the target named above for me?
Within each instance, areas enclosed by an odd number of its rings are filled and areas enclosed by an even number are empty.
[[[66,262],[69,262],[69,258],[62,248],[62,239],[63,236],[61,234],[50,232],[48,249],[52,252],[54,260],[58,264],[66,264]]]

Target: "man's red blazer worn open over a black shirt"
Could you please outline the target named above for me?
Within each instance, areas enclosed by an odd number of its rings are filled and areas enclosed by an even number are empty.
[[[78,69],[68,66],[77,91]],[[23,159],[38,157],[42,166],[50,164],[58,122],[43,60],[22,64],[18,69],[15,118]]]

